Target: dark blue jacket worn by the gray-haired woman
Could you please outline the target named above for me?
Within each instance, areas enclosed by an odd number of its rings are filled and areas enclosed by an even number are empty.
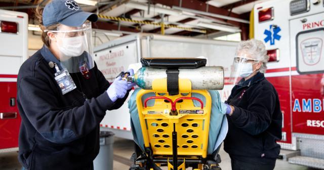
[[[227,115],[228,133],[224,150],[230,157],[250,162],[274,164],[280,152],[282,113],[272,84],[257,73],[234,86],[226,103],[234,106]]]

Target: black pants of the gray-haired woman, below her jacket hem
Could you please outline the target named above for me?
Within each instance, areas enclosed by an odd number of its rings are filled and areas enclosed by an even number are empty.
[[[231,159],[232,170],[273,170],[275,164],[248,163]]]

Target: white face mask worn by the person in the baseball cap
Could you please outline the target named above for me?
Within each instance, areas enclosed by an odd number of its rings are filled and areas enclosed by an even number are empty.
[[[57,43],[57,47],[66,57],[77,57],[85,51],[84,39],[84,35],[61,38],[62,44]]]

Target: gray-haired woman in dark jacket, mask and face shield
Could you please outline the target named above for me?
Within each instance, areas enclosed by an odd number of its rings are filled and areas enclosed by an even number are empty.
[[[224,150],[232,169],[273,169],[280,146],[282,113],[272,84],[264,77],[269,59],[260,40],[241,41],[230,80]]]

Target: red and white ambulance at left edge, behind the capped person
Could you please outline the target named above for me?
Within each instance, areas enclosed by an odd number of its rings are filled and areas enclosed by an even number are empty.
[[[17,75],[28,53],[28,15],[0,10],[0,153],[18,151]]]

